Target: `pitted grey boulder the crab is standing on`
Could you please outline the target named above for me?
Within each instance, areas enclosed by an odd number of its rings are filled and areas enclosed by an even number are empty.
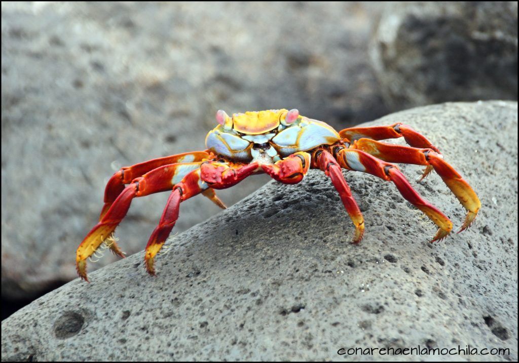
[[[340,348],[418,345],[509,348],[487,359],[517,360],[517,103],[434,105],[364,125],[394,122],[427,135],[479,194],[469,230],[430,244],[434,228],[392,184],[346,173],[366,221],[352,245],[323,173],[270,182],[172,238],[157,277],[140,252],[11,315],[2,360],[331,360]],[[413,184],[461,226],[438,175]]]

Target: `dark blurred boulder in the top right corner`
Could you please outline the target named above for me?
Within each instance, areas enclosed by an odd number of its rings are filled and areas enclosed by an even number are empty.
[[[517,100],[517,2],[390,3],[370,53],[393,110]]]

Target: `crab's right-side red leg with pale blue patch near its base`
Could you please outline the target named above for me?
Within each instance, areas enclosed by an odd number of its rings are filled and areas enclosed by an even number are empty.
[[[439,227],[431,242],[445,238],[452,231],[452,222],[438,208],[419,196],[396,165],[379,160],[367,152],[340,146],[334,148],[334,155],[336,155],[340,166],[345,169],[369,173],[393,182],[402,197],[424,212]]]

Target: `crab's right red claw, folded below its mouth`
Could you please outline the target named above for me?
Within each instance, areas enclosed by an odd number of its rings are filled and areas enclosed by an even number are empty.
[[[299,151],[275,164],[263,164],[261,167],[265,173],[278,182],[297,184],[303,180],[310,169],[310,155],[308,152]]]

